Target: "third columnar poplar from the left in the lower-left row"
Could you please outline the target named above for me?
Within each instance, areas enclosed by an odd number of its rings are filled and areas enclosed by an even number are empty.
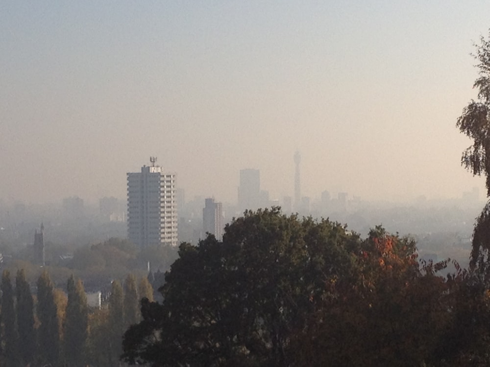
[[[41,363],[58,366],[60,357],[60,321],[54,300],[54,286],[47,271],[37,280],[38,345]]]

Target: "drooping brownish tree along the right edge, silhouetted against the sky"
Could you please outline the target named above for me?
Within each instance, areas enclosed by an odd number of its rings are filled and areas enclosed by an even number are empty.
[[[473,175],[484,175],[487,197],[490,197],[490,37],[480,38],[476,54],[479,77],[473,87],[478,90],[477,100],[471,100],[458,118],[456,126],[473,140],[462,155],[461,163]],[[471,266],[484,266],[490,250],[490,201],[477,218],[473,231]]]

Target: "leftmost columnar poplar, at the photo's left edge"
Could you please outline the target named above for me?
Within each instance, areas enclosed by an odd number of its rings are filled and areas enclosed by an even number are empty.
[[[10,272],[4,270],[1,277],[1,322],[4,340],[4,355],[8,366],[18,363],[18,336],[15,328],[14,290],[10,281]]]

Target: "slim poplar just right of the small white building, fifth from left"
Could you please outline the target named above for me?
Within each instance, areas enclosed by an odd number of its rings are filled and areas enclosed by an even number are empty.
[[[122,353],[122,338],[124,333],[124,293],[118,280],[111,285],[109,296],[109,364],[119,365]]]

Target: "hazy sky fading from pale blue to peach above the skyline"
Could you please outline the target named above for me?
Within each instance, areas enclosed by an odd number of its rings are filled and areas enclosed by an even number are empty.
[[[459,197],[455,127],[490,1],[0,4],[0,199],[124,198],[149,156],[186,198]]]

